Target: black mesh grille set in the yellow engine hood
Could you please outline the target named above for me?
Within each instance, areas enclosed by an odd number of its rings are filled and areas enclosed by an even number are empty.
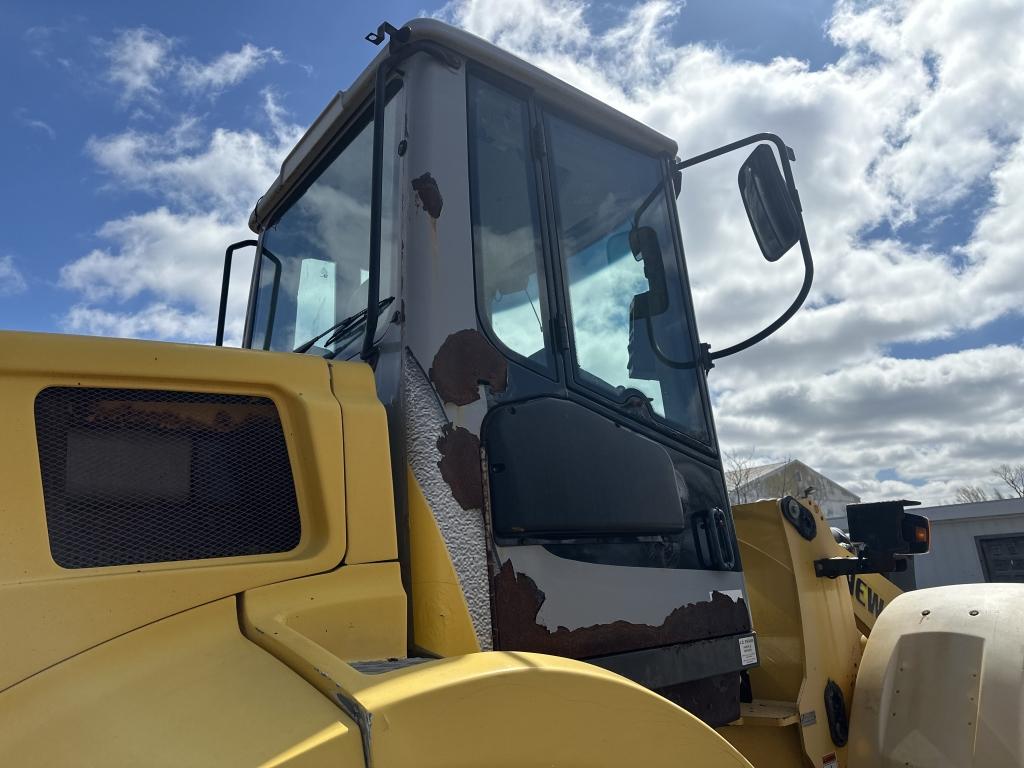
[[[266,397],[50,387],[36,433],[66,568],[287,552],[299,508]]]

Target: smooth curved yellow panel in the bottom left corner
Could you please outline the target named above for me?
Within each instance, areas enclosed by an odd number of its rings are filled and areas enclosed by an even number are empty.
[[[364,765],[356,725],[242,637],[233,598],[0,693],[0,756],[20,768]]]

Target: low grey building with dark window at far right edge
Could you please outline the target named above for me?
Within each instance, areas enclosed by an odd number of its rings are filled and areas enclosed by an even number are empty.
[[[911,509],[932,521],[932,549],[913,558],[918,589],[1024,582],[1024,499]]]

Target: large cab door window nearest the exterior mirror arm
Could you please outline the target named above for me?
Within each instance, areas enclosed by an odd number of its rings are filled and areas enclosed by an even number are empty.
[[[663,162],[545,122],[577,382],[708,442]]]

